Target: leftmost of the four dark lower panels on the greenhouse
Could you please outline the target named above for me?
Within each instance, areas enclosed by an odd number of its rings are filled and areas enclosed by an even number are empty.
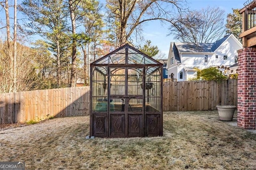
[[[92,136],[107,137],[107,114],[93,114],[92,119]]]

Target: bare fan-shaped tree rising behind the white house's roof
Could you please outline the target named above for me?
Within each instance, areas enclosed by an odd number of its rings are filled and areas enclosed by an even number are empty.
[[[181,42],[211,43],[225,34],[224,17],[224,10],[216,7],[193,10],[170,26],[169,35]]]

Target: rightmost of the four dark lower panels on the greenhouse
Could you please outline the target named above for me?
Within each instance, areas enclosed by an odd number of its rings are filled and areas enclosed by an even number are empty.
[[[146,136],[160,136],[160,114],[146,114]]]

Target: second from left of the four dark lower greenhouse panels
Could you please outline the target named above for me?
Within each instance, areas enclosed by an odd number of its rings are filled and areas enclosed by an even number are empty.
[[[125,116],[124,114],[110,115],[110,136],[124,137],[125,136]]]

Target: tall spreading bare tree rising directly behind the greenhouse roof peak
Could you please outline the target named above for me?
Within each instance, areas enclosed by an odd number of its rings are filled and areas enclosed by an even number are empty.
[[[177,14],[183,11],[186,0],[106,0],[108,26],[120,44],[127,35],[136,32],[140,36],[141,26],[152,20],[175,24]]]

